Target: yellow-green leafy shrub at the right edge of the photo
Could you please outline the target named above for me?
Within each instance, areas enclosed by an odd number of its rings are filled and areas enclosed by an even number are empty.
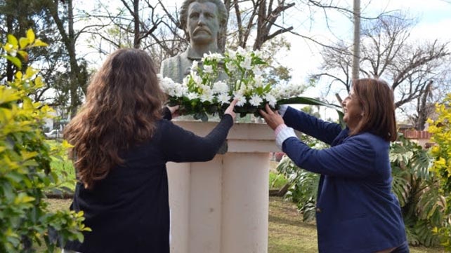
[[[436,144],[431,148],[433,166],[431,172],[438,177],[441,193],[446,197],[445,214],[448,223],[436,228],[440,234],[442,245],[451,252],[451,93],[447,94],[443,103],[436,104],[436,121],[428,120],[431,140]]]

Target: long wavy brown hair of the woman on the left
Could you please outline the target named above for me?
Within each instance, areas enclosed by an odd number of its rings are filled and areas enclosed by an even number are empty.
[[[122,48],[107,57],[89,83],[86,103],[64,132],[86,189],[124,163],[119,152],[152,137],[164,100],[147,53]]]

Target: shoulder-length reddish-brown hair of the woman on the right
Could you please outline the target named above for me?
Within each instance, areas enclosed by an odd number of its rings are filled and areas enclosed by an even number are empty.
[[[385,81],[362,78],[353,81],[353,90],[363,109],[363,116],[351,132],[372,132],[394,142],[397,138],[393,90]]]

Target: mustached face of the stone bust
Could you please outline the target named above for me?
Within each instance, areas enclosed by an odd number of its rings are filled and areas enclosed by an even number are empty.
[[[211,2],[193,2],[188,8],[188,34],[192,43],[216,42],[219,31],[218,8]]]

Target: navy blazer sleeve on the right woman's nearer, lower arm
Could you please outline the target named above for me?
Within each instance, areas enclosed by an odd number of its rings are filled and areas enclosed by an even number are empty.
[[[376,153],[371,141],[359,136],[321,150],[311,149],[299,139],[290,137],[283,142],[282,150],[297,166],[322,175],[364,178],[375,173]]]

